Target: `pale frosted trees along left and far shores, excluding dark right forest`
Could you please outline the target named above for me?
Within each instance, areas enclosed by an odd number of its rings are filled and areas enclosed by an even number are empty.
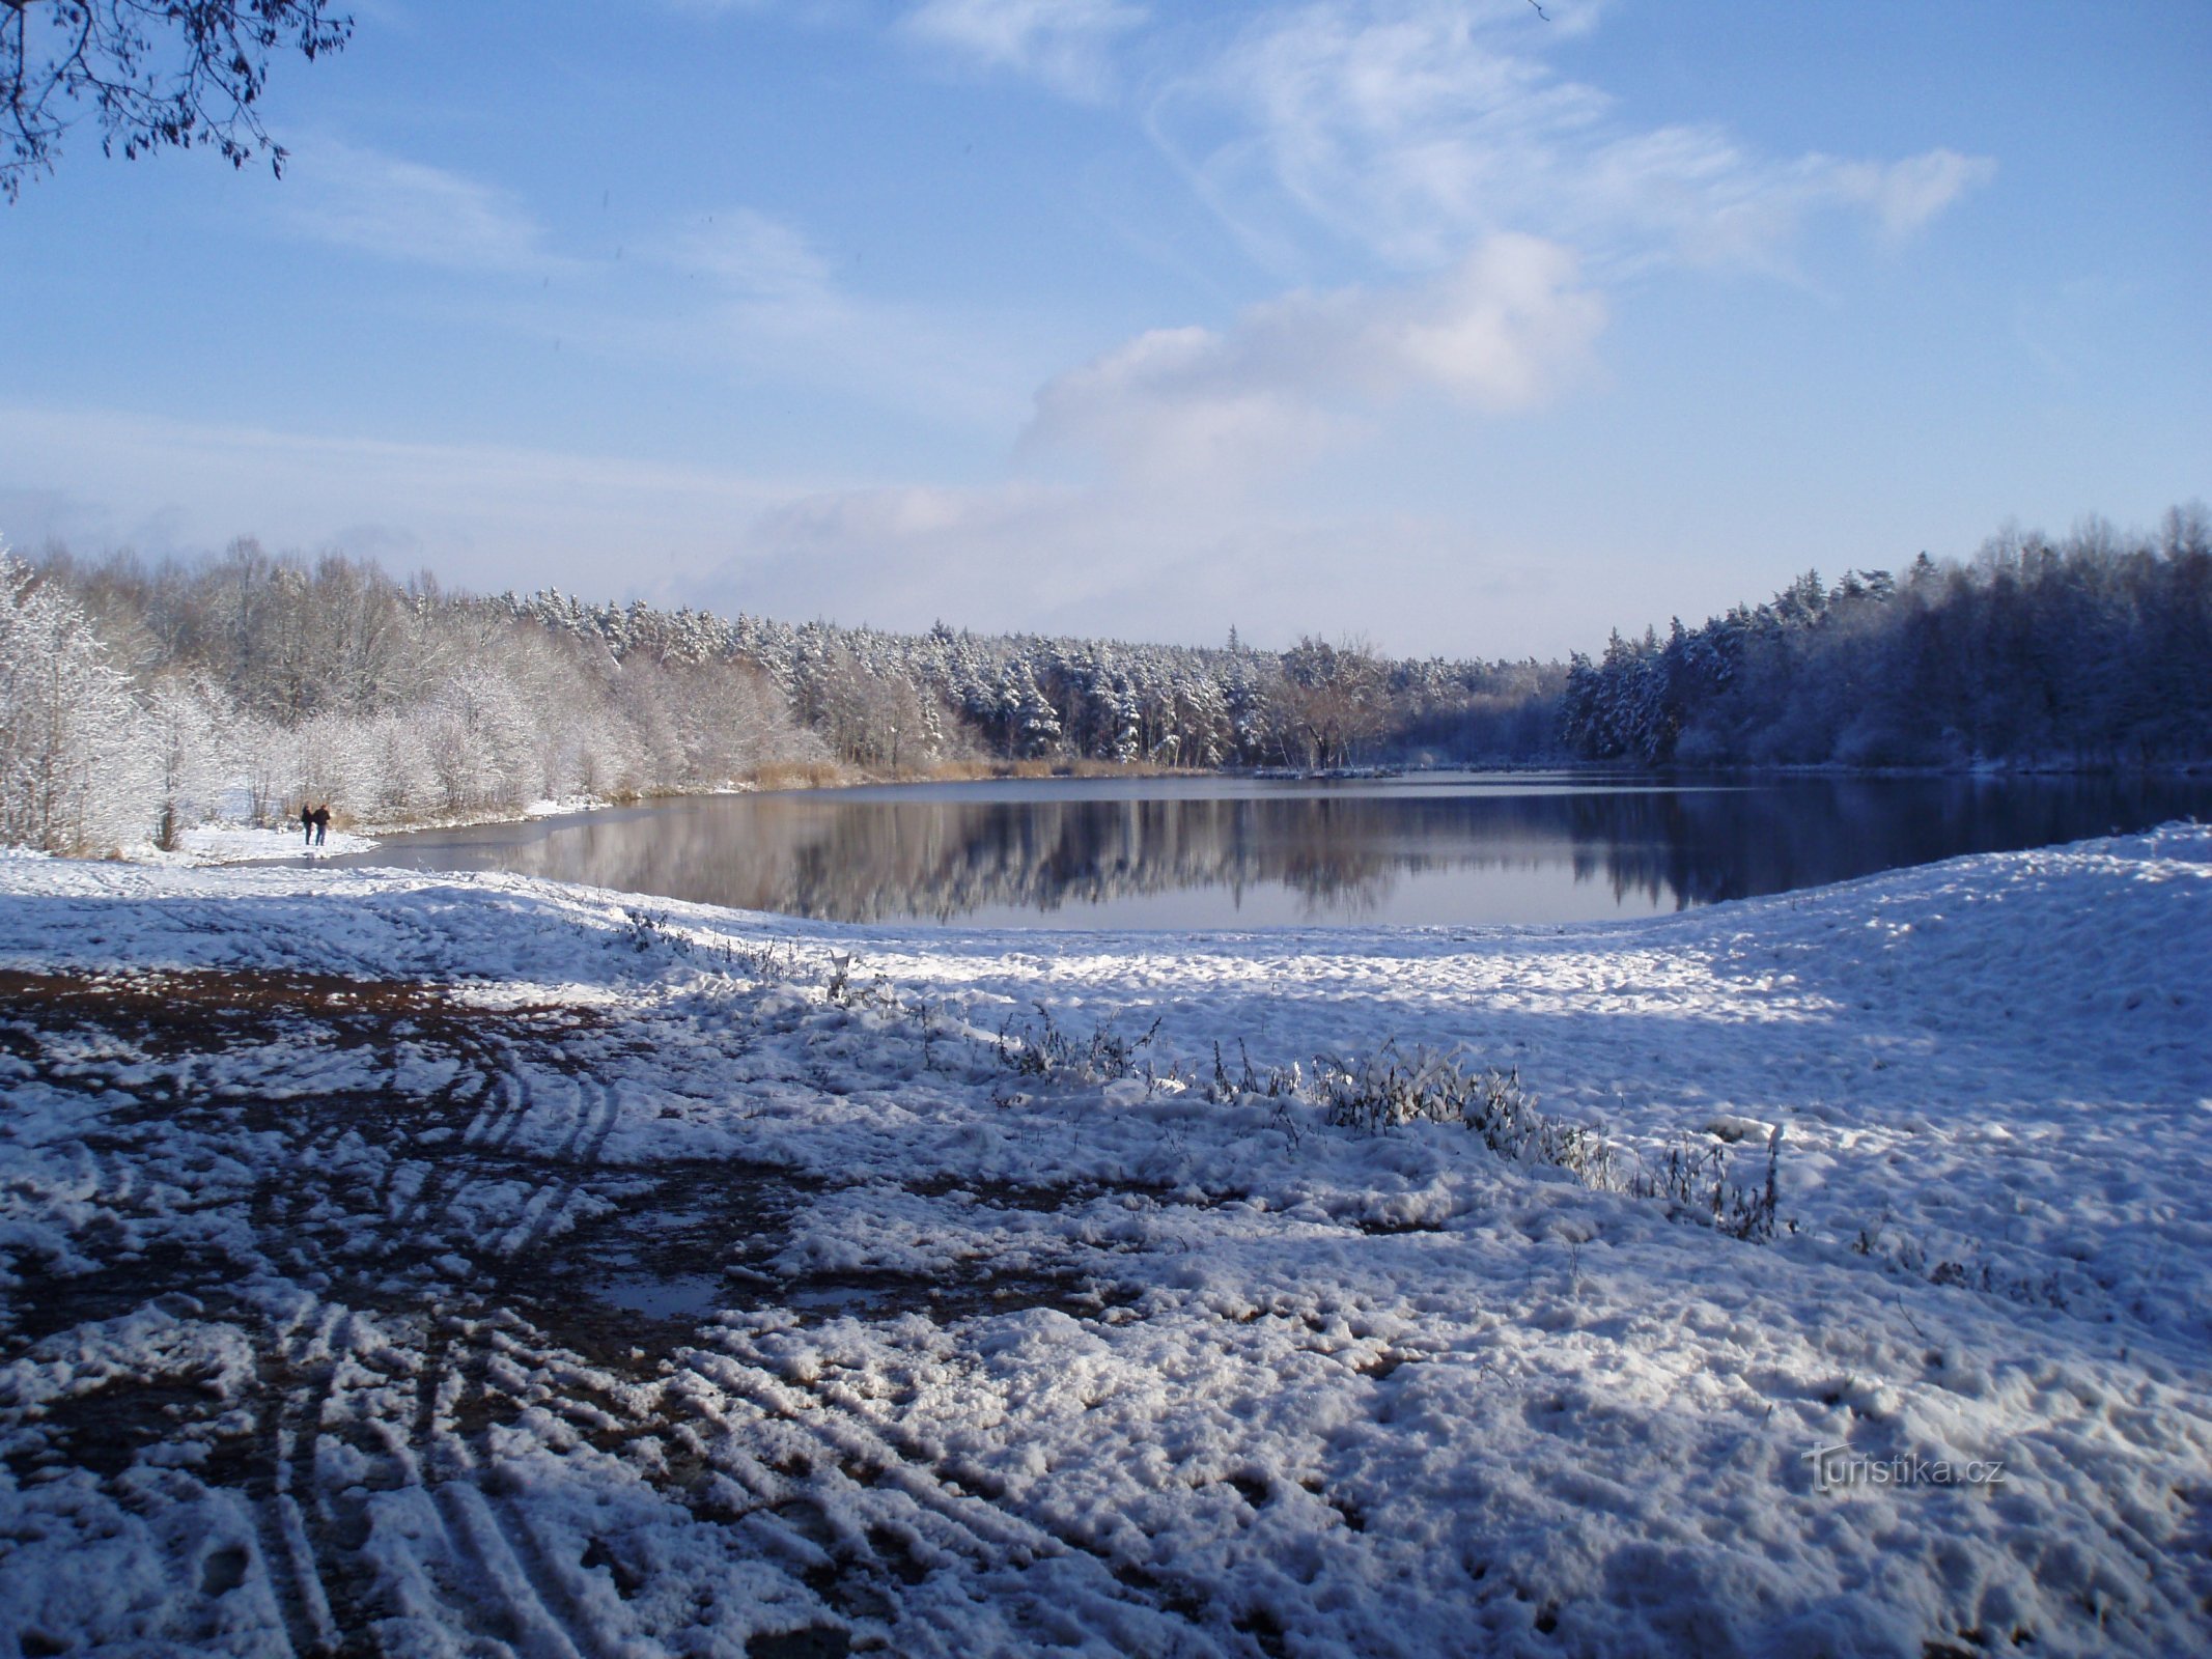
[[[0,553],[0,841],[168,843],[305,799],[369,825],[743,781],[1077,761],[1537,759],[1557,664],[792,626],[445,593],[237,542],[206,564]],[[243,801],[228,799],[243,781]]]

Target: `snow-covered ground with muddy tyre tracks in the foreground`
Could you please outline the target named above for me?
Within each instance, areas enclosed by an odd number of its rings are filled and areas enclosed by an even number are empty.
[[[1781,1225],[1208,1097],[1387,1042]],[[2212,1648],[2212,830],[1157,938],[4,860],[0,1079],[0,1652]]]

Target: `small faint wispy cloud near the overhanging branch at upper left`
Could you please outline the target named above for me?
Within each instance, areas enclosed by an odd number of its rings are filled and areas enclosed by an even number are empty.
[[[544,270],[538,221],[507,190],[336,139],[303,142],[288,168],[294,230],[385,259],[451,270]]]

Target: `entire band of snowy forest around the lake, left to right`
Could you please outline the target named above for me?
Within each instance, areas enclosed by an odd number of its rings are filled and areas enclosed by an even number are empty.
[[[0,551],[0,845],[168,847],[301,801],[398,827],[849,779],[1562,759],[2212,761],[2212,513],[1807,571],[1566,664],[794,626],[449,593],[252,540],[159,564]]]

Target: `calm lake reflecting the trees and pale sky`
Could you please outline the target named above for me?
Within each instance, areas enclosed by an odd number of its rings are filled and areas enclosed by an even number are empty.
[[[394,836],[343,863],[511,869],[847,922],[1571,922],[2212,816],[2205,779],[1588,772],[916,783]]]

